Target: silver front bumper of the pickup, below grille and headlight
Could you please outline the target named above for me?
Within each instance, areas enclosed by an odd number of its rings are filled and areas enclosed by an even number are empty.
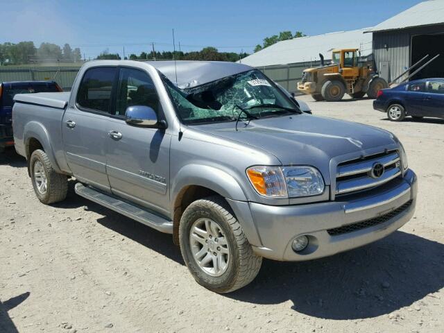
[[[390,187],[377,188],[369,193],[366,196],[352,196],[348,200],[339,198],[305,205],[269,206],[249,203],[251,219],[262,244],[259,245],[253,239],[250,241],[253,250],[268,259],[302,261],[327,257],[382,239],[401,228],[413,216],[417,194],[416,175],[408,170],[404,178],[398,178]],[[367,221],[377,223],[366,224]],[[366,226],[356,228],[355,223]],[[339,234],[332,232],[332,229],[354,224],[352,231],[350,228],[341,228],[348,231]],[[248,237],[253,230],[247,231]],[[291,243],[301,235],[309,237],[309,246],[296,253]]]

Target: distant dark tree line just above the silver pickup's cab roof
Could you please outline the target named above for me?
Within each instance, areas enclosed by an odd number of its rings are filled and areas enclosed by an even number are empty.
[[[241,58],[245,58],[249,54],[246,52],[219,52],[218,49],[212,46],[204,47],[200,51],[149,51],[141,52],[138,56],[131,53],[124,57],[126,60],[211,60],[211,61],[231,61],[235,62]],[[109,53],[108,50],[102,51],[96,59],[110,59],[119,60],[121,56],[119,53]]]

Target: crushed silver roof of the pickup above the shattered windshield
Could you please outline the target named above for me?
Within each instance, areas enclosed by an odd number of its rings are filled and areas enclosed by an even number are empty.
[[[196,87],[226,76],[250,71],[253,67],[237,62],[166,60],[146,61],[181,89]],[[176,80],[177,74],[177,80]]]

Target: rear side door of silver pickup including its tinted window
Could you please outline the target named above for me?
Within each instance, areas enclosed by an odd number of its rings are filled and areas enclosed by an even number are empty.
[[[65,153],[72,173],[86,184],[110,191],[106,174],[105,143],[112,96],[117,83],[117,67],[92,67],[78,86],[76,103],[62,120]]]

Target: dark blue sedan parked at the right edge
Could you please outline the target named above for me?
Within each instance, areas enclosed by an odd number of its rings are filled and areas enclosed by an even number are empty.
[[[386,112],[391,121],[402,121],[407,116],[444,118],[444,78],[423,78],[381,89],[373,108]]]

